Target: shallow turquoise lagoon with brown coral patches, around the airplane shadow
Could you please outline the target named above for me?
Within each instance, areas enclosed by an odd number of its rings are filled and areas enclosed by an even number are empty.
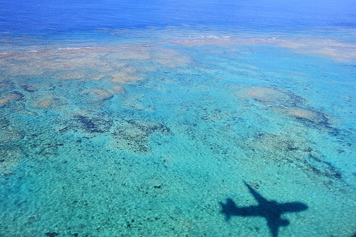
[[[198,34],[1,54],[1,235],[353,235],[355,45]]]

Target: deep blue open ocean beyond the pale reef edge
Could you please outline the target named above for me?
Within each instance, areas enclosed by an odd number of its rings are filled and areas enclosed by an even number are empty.
[[[0,2],[0,29],[60,34],[97,28],[191,25],[293,31],[356,26],[353,0],[31,0]]]

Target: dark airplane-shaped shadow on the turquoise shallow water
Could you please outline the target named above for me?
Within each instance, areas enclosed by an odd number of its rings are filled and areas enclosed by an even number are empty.
[[[222,206],[222,213],[225,215],[225,220],[230,220],[231,216],[261,216],[266,218],[268,228],[272,237],[278,236],[278,228],[289,225],[287,219],[282,219],[281,215],[285,212],[299,212],[308,209],[308,205],[303,202],[286,202],[278,203],[274,200],[268,201],[262,197],[245,181],[244,184],[248,188],[250,194],[257,200],[258,205],[248,207],[238,207],[236,203],[227,198],[226,203],[219,202]]]

